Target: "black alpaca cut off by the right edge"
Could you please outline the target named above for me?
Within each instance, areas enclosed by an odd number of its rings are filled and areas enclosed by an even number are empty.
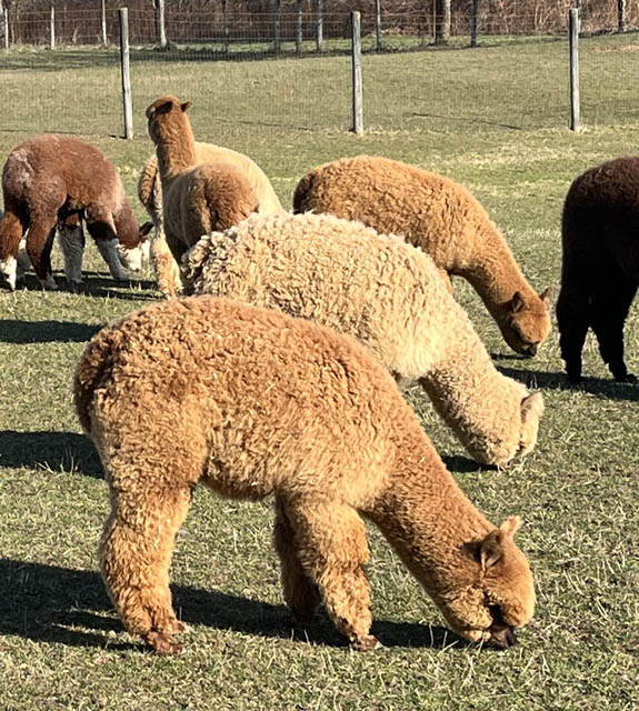
[[[623,360],[623,324],[639,286],[639,157],[617,158],[576,178],[563,203],[559,347],[570,382],[592,328],[615,380],[635,382]]]

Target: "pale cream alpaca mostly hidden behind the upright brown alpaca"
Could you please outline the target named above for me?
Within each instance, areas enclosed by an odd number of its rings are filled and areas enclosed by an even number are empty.
[[[269,179],[262,169],[248,156],[238,153],[230,148],[196,141],[196,163],[217,162],[230,163],[241,170],[258,199],[257,212],[260,214],[276,214],[282,211],[282,206]],[[158,159],[156,156],[149,158],[142,168],[138,180],[138,198],[156,227],[156,236],[151,242],[151,262],[158,280],[158,287],[164,296],[174,296],[176,291],[181,289],[180,270],[167,246],[163,232],[162,187],[158,176]]]

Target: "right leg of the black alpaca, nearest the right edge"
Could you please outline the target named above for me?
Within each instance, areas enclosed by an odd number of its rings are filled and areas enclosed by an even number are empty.
[[[636,382],[623,360],[623,324],[637,293],[637,280],[620,271],[607,274],[598,284],[592,300],[592,330],[597,336],[599,352],[615,380]]]

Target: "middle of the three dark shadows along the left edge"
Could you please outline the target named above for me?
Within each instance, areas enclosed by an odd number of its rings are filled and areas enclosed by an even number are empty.
[[[68,471],[103,479],[93,442],[76,432],[0,430],[0,467]]]

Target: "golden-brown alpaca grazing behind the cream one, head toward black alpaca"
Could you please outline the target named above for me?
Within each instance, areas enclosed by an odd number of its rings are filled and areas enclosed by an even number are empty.
[[[535,356],[548,338],[550,289],[537,294],[486,210],[459,183],[387,158],[343,158],[299,181],[293,212],[308,210],[400,234],[467,279],[516,352]]]

